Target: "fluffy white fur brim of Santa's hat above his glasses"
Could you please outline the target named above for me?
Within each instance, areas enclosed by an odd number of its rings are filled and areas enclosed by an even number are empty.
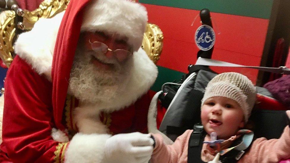
[[[137,51],[147,24],[147,11],[129,0],[92,0],[85,8],[81,31],[106,31],[128,38]]]

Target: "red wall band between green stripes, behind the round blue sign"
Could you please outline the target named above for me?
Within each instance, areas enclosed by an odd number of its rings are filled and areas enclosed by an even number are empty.
[[[186,5],[182,4],[183,1],[176,0],[173,0],[172,3],[171,1],[164,0],[139,0],[139,2],[148,11],[149,23],[158,25],[164,34],[163,52],[157,66],[172,71],[187,73],[187,66],[189,64],[195,64],[199,50],[194,42],[194,34],[201,23],[196,21],[193,26],[191,24],[200,10],[182,8]],[[233,3],[231,1],[227,2]],[[190,1],[188,3],[192,3],[194,8],[195,3],[201,3],[201,1]],[[212,3],[217,2],[212,1]],[[242,7],[246,8],[250,5],[252,4],[244,4]],[[261,7],[262,4],[258,5]],[[239,8],[239,6],[234,5],[232,7]],[[211,10],[210,5],[209,10]],[[264,17],[259,17],[259,15],[255,17],[255,13],[253,13],[254,16],[246,15],[251,11],[245,12],[245,15],[220,12],[227,11],[214,12],[211,10],[213,26],[216,33],[212,58],[235,64],[260,66],[269,24],[269,15]],[[267,12],[270,13],[271,8]],[[239,72],[248,76],[254,83],[258,75],[257,70],[246,68],[212,67],[212,69],[218,73]],[[159,74],[162,77],[165,76],[162,71],[159,71]],[[167,79],[168,82],[173,80],[175,80],[174,77],[172,79],[168,77]],[[157,79],[156,83],[158,82]]]

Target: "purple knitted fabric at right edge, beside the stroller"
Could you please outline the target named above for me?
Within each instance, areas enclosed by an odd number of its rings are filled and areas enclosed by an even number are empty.
[[[290,107],[290,75],[285,75],[264,85],[286,107]]]

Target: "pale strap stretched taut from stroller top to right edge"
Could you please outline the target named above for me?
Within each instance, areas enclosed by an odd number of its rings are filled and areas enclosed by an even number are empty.
[[[222,66],[222,67],[245,67],[245,68],[252,68],[252,69],[258,69],[262,71],[267,71],[267,72],[273,72],[273,73],[280,73],[280,74],[290,74],[290,69],[287,67],[257,67],[257,66],[244,66],[244,65],[239,65],[239,64],[233,64],[233,63],[228,63],[224,61],[217,61],[214,59],[207,59],[207,58],[201,58],[199,57],[196,61],[195,65],[204,65],[204,66]]]

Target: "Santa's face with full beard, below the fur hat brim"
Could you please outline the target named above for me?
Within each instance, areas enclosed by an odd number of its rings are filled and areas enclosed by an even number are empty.
[[[107,51],[104,45],[112,51]],[[133,57],[130,53],[120,57],[113,52],[117,49],[130,52],[125,37],[103,32],[81,33],[70,73],[70,93],[89,103],[108,102],[120,96],[129,80]]]

